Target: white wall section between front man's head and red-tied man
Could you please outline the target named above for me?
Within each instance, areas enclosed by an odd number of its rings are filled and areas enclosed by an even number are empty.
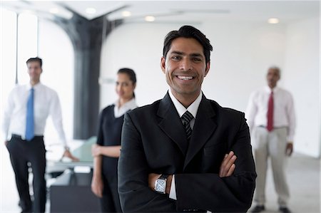
[[[284,26],[205,23],[201,31],[214,48],[204,93],[223,106],[245,111],[251,91],[265,85],[267,67],[282,66]]]

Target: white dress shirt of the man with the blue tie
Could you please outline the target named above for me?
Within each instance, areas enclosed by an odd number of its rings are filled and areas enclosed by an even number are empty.
[[[57,93],[51,88],[37,83],[34,88],[34,135],[44,135],[46,120],[51,115],[59,139],[66,145],[66,136],[63,131],[61,105]],[[9,139],[9,133],[26,135],[26,105],[31,84],[17,85],[9,94],[8,103],[4,109],[2,123],[3,140]]]

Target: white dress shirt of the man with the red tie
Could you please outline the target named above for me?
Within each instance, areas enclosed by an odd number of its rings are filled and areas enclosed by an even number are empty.
[[[293,142],[295,134],[295,109],[292,95],[282,88],[273,88],[273,128],[287,128],[287,141]],[[267,107],[271,89],[268,86],[250,95],[245,117],[252,131],[254,127],[267,125]]]

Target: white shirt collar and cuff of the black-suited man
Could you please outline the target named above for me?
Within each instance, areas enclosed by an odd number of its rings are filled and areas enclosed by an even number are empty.
[[[202,100],[202,91],[200,91],[200,95],[198,95],[198,98],[196,98],[196,100],[194,100],[194,102],[188,106],[188,108],[186,109],[185,106],[183,106],[183,104],[181,104],[173,95],[172,91],[169,90],[168,91],[169,95],[170,95],[170,99],[173,101],[173,104],[178,112],[178,115],[180,116],[180,120],[182,120],[182,116],[183,114],[188,111],[190,112],[190,114],[193,115],[193,119],[190,120],[190,128],[194,127],[195,124],[195,118],[196,118],[196,114],[198,113],[198,107],[200,106],[200,100]],[[182,121],[183,123],[183,121]],[[175,186],[175,175],[173,175],[173,179],[170,185],[170,194],[169,194],[170,199],[177,199],[176,196],[176,186]]]

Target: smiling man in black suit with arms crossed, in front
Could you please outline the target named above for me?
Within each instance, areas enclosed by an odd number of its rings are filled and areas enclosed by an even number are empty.
[[[205,98],[210,41],[193,26],[165,37],[170,90],[127,113],[118,162],[123,212],[246,212],[255,165],[244,113]]]

